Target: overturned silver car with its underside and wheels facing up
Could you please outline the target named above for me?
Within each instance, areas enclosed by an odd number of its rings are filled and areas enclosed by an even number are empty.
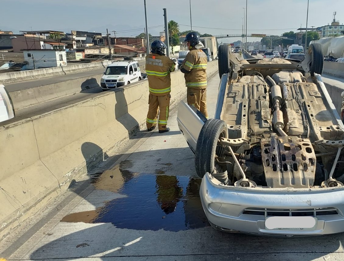
[[[344,125],[321,79],[323,50],[303,61],[246,59],[219,46],[214,119],[181,102],[211,225],[310,236],[344,231]]]

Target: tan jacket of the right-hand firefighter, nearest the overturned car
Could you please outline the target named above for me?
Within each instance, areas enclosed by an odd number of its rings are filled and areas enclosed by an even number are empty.
[[[199,49],[191,49],[181,65],[189,73],[184,74],[186,87],[205,89],[207,87],[207,55]]]

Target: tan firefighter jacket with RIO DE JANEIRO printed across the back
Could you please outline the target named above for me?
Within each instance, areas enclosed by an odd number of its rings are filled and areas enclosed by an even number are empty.
[[[171,92],[170,72],[175,70],[175,63],[165,55],[151,53],[146,56],[146,73],[149,93],[164,96]]]

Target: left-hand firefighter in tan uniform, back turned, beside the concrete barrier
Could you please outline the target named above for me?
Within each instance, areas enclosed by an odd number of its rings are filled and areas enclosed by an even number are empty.
[[[166,127],[169,117],[171,76],[170,72],[175,70],[174,62],[165,56],[166,45],[155,40],[151,44],[151,54],[146,56],[146,73],[149,84],[147,131],[151,132],[157,125],[157,116],[159,113],[159,133],[168,132],[170,128]]]

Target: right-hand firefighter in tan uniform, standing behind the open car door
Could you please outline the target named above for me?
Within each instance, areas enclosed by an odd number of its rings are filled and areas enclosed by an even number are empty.
[[[190,52],[186,55],[180,70],[184,73],[185,85],[187,87],[187,104],[193,105],[206,118],[207,112],[207,55],[200,50],[203,44],[200,36],[191,32],[185,36],[184,42]]]

